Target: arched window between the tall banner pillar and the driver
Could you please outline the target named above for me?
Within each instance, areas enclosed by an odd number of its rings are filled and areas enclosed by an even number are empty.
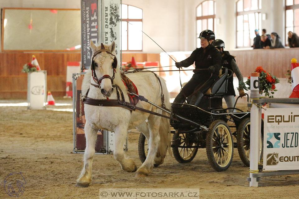
[[[121,4],[121,18],[121,50],[142,51],[142,9]]]

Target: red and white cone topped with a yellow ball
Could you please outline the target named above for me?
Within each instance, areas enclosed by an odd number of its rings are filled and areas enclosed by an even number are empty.
[[[291,62],[292,94],[289,98],[299,98],[299,63],[295,58]]]

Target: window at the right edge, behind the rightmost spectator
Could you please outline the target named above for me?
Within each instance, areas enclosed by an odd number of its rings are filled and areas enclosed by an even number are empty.
[[[299,35],[299,0],[286,0],[286,44],[289,31]]]

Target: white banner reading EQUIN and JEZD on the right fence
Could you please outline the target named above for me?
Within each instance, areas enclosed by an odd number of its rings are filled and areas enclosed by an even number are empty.
[[[263,170],[297,170],[298,138],[299,108],[265,110]]]

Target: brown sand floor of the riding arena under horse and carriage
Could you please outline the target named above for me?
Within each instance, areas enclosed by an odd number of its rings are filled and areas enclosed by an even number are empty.
[[[0,100],[0,103],[26,100]],[[56,103],[72,99],[56,99]],[[56,107],[70,108],[72,105]],[[205,149],[195,159],[178,163],[167,155],[164,164],[150,176],[135,178],[121,170],[113,155],[95,155],[93,179],[88,188],[75,187],[83,166],[83,154],[73,154],[73,113],[53,110],[27,110],[26,106],[0,107],[0,198],[12,198],[3,180],[12,172],[22,172],[25,191],[19,198],[99,198],[99,188],[196,188],[197,198],[298,198],[299,175],[264,177],[260,187],[249,187],[249,168],[240,160],[237,149],[225,172],[214,171]],[[126,155],[139,167],[138,131],[128,134]],[[190,198],[190,197],[189,197]]]

